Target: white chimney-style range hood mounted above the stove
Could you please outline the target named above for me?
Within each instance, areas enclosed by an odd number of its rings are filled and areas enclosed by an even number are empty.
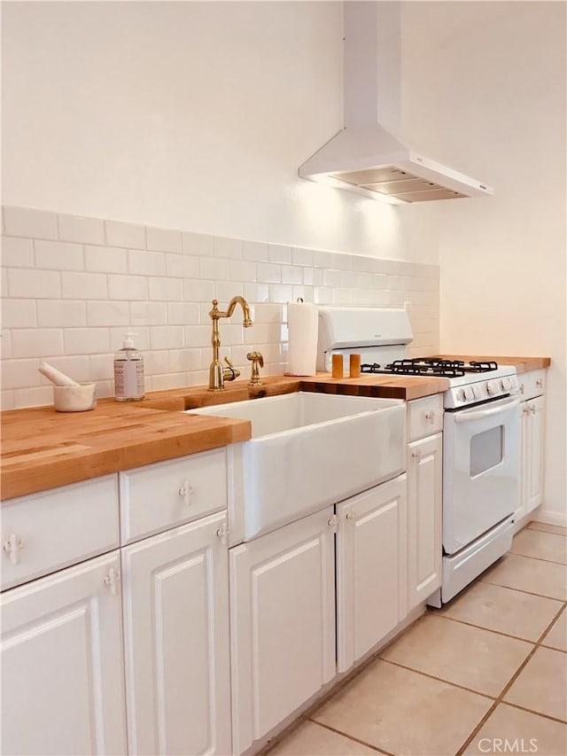
[[[345,128],[299,175],[391,204],[485,197],[492,187],[404,144],[400,137],[400,2],[348,0]]]

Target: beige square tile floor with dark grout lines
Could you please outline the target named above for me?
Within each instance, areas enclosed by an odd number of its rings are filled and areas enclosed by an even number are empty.
[[[567,756],[567,529],[531,523],[269,756]]]

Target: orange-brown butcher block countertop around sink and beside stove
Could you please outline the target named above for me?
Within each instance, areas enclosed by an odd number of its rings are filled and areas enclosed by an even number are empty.
[[[516,365],[518,372],[546,368],[551,363],[548,357],[446,356],[495,359]],[[448,386],[446,378],[372,374],[331,378],[329,373],[320,373],[312,378],[262,377],[262,385],[253,387],[248,386],[247,378],[239,378],[218,393],[209,392],[206,386],[186,386],[151,392],[144,401],[102,399],[89,412],[56,412],[50,406],[12,409],[1,413],[0,497],[34,494],[251,437],[247,420],[184,415],[183,409],[296,391],[410,401],[442,394]]]

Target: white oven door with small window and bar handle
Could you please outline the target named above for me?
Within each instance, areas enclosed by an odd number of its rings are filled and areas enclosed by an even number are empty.
[[[445,412],[443,547],[454,554],[517,509],[519,399]]]

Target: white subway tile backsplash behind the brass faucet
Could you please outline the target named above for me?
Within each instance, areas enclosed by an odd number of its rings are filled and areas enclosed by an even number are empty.
[[[410,302],[409,353],[439,350],[438,266],[26,208],[4,208],[4,221],[2,396],[11,407],[51,402],[35,370],[43,358],[96,380],[99,397],[112,395],[113,353],[127,331],[144,353],[146,390],[206,384],[211,302],[226,309],[236,294],[251,304],[254,324],[243,328],[239,308],[223,320],[221,356],[231,355],[243,376],[252,347],[264,355],[263,375],[285,370],[286,302],[299,297],[361,307]]]

